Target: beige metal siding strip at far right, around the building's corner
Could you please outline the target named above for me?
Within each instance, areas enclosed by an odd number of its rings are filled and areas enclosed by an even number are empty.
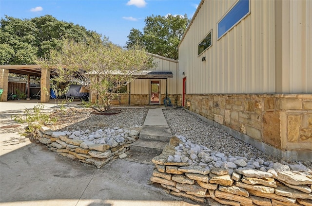
[[[312,92],[312,2],[290,1],[290,91]],[[284,12],[284,11],[283,11]]]

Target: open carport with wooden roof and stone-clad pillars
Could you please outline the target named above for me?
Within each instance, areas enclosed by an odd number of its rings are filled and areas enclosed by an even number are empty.
[[[40,77],[41,91],[43,91],[43,88],[50,90],[50,76],[54,74],[51,69],[40,68],[40,65],[0,65],[0,89],[3,89],[0,102],[7,101],[9,73],[27,75],[28,88],[30,88],[30,76]],[[30,98],[30,89],[27,90],[27,98]],[[47,103],[49,100],[49,94],[42,92],[40,103]]]

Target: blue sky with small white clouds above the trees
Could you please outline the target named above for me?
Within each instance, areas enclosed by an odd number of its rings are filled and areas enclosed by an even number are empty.
[[[51,15],[96,31],[124,46],[132,28],[142,32],[148,16],[192,18],[200,0],[0,0],[0,17],[29,19]]]

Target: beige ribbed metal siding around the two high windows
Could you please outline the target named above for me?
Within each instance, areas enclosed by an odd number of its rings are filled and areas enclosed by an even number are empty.
[[[274,1],[251,0],[251,14],[217,40],[217,22],[236,0],[205,0],[179,47],[187,93],[261,93],[275,90]],[[213,29],[212,47],[197,56]],[[206,61],[201,62],[205,56]]]

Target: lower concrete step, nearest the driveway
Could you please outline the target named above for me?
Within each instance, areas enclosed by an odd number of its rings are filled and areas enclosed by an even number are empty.
[[[138,139],[130,145],[130,150],[159,155],[162,153],[162,150],[164,149],[166,144],[167,143],[163,141]]]

